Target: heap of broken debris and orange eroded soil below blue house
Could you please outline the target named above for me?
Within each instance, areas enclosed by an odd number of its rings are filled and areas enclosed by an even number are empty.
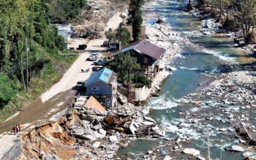
[[[164,129],[145,116],[148,108],[125,103],[105,111],[94,100],[68,108],[57,121],[31,130],[23,137],[20,159],[113,159],[119,148],[136,138],[164,137]]]

